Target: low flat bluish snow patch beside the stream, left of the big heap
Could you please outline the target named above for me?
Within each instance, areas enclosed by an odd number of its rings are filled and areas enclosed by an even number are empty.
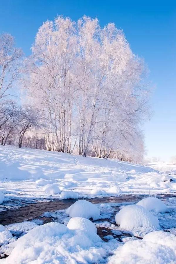
[[[24,232],[28,232],[29,230],[33,229],[34,227],[38,226],[34,222],[24,221],[21,223],[10,224],[5,226],[6,230],[9,230],[13,235],[19,236]]]

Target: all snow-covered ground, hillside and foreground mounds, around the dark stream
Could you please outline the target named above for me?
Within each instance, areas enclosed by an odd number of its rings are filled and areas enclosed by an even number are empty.
[[[92,204],[81,199],[31,221],[0,225],[0,263],[176,263],[176,176],[174,168],[168,171],[0,146],[1,211],[11,209],[8,202],[21,207],[24,201],[131,194],[125,196],[128,202],[113,202],[115,197]],[[160,200],[138,195],[149,192]]]

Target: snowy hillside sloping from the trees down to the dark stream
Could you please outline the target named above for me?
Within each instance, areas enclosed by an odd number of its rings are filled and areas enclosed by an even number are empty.
[[[0,188],[5,199],[148,194],[149,187],[153,194],[173,193],[175,177],[116,160],[0,146]]]

